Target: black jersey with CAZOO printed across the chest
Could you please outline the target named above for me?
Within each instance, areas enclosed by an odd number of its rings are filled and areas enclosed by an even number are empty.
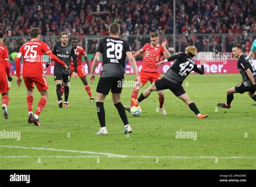
[[[77,55],[71,44],[68,44],[66,47],[62,47],[61,43],[58,43],[53,47],[52,53],[55,54],[60,60],[65,62],[66,66],[69,67],[68,71],[66,71],[62,65],[55,63],[54,73],[70,75],[71,56],[74,61],[74,72],[77,72]]]

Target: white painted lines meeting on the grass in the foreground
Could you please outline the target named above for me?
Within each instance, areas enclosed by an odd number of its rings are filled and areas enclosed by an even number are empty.
[[[7,148],[21,148],[21,149],[36,149],[36,150],[51,150],[57,152],[70,152],[70,153],[85,153],[85,154],[93,154],[91,156],[0,156],[0,158],[30,158],[30,157],[48,157],[48,158],[83,158],[83,157],[121,157],[121,158],[136,158],[136,159],[256,159],[256,156],[129,156],[129,155],[117,155],[111,153],[97,153],[97,152],[89,152],[87,150],[69,150],[69,149],[53,149],[53,148],[43,148],[43,147],[22,147],[22,146],[1,146]],[[98,155],[98,156],[96,156]],[[100,156],[102,155],[102,156]]]

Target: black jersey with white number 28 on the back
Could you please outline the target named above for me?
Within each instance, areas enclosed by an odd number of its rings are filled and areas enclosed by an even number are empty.
[[[99,41],[96,52],[103,55],[102,77],[124,77],[126,52],[131,47],[120,38],[106,37]]]

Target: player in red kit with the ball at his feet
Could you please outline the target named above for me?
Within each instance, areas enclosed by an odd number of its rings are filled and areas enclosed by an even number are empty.
[[[169,58],[171,54],[166,48],[167,40],[164,39],[162,44],[159,45],[159,33],[158,32],[152,32],[150,34],[150,41],[151,44],[145,44],[142,49],[139,49],[135,54],[133,54],[133,57],[136,58],[139,55],[144,53],[143,56],[143,63],[142,63],[142,70],[139,73],[140,81],[141,83],[139,86],[136,85],[132,91],[131,95],[131,106],[133,105],[132,98],[135,100],[138,97],[139,90],[147,83],[147,81],[150,81],[153,83],[154,81],[157,81],[161,78],[159,74],[159,67],[156,66],[156,64],[161,60],[161,56],[165,56],[165,58]],[[159,96],[159,109],[161,111],[161,114],[166,115],[166,111],[163,107],[164,105],[164,92],[163,90],[158,91]],[[131,106],[124,106],[125,110],[130,112]]]

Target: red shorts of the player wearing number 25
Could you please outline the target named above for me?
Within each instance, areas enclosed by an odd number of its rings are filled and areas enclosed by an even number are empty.
[[[48,84],[44,75],[37,77],[23,77],[26,88],[34,88],[33,83],[36,84],[38,91],[43,91],[48,89]]]

